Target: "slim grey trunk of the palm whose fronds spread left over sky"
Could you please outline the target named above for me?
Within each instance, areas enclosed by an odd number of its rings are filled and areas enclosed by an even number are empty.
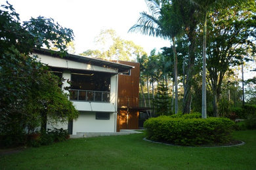
[[[175,46],[175,37],[172,37],[173,40],[173,57],[174,57],[174,80],[175,80],[175,114],[178,113],[178,59],[177,59],[177,51]]]

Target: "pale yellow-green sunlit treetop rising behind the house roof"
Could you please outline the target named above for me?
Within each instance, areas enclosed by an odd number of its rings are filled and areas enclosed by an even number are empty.
[[[135,61],[137,56],[146,54],[141,46],[133,41],[121,39],[113,29],[102,30],[100,35],[95,38],[95,42],[101,46],[100,49],[86,50],[81,55],[110,60]]]

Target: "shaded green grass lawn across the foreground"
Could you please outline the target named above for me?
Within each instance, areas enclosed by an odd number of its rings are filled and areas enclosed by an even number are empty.
[[[243,146],[193,148],[143,141],[144,134],[70,139],[0,156],[0,169],[256,169],[256,131]]]

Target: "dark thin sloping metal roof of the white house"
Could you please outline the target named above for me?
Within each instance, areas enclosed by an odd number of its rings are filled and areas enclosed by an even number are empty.
[[[111,61],[106,61],[104,59],[98,59],[98,58],[90,58],[87,56],[79,56],[75,54],[66,54],[66,56],[60,56],[60,52],[54,51],[54,50],[48,50],[45,48],[34,48],[33,52],[38,53],[38,54],[45,54],[48,56],[53,56],[57,58],[64,58],[64,59],[70,59],[72,61],[77,61],[80,63],[89,63],[91,65],[97,65],[100,67],[108,67],[108,68],[113,68],[113,69],[118,69],[118,73],[124,73],[129,71],[130,69],[133,69],[133,66],[130,65],[125,65],[125,64],[120,64],[120,63],[114,63]]]

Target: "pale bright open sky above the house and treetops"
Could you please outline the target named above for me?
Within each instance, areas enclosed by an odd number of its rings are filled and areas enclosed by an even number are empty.
[[[1,5],[6,1],[0,0]],[[156,37],[127,33],[136,24],[139,13],[147,11],[144,0],[9,0],[14,9],[20,14],[20,20],[30,20],[31,17],[45,16],[55,22],[73,29],[75,35],[75,53],[79,54],[88,49],[98,49],[95,37],[101,30],[114,29],[121,39],[135,42],[150,54],[154,48],[160,50],[170,46],[169,41]]]

